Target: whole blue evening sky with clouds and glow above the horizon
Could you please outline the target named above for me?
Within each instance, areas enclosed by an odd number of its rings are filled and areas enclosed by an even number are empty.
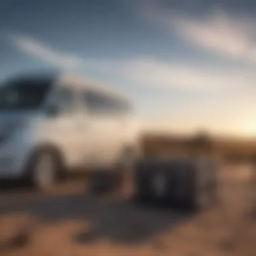
[[[0,0],[0,79],[113,84],[155,129],[256,134],[253,0]]]

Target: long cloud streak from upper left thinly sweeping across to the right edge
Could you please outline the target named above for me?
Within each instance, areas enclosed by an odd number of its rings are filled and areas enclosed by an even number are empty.
[[[191,92],[222,92],[236,88],[253,86],[255,76],[245,71],[225,71],[205,67],[193,67],[185,63],[165,63],[152,58],[136,59],[86,59],[61,53],[43,42],[27,36],[12,35],[11,41],[24,53],[36,57],[49,65],[62,69],[96,71],[118,77],[144,88],[164,88]],[[90,73],[90,72],[89,72]]]

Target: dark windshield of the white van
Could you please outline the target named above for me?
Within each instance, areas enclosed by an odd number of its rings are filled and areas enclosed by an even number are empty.
[[[20,79],[0,87],[0,110],[35,110],[49,91],[49,79]]]

